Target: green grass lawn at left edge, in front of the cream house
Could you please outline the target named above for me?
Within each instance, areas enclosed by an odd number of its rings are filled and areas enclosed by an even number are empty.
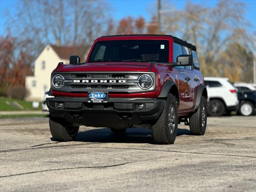
[[[24,107],[24,110],[42,110],[42,106],[41,106],[42,102],[40,102],[38,109],[34,109],[34,108],[32,108],[32,102],[18,100],[18,99],[11,99],[11,98],[7,98],[7,97],[0,97],[0,111],[19,111],[19,110],[21,110],[18,107],[14,107],[14,106],[10,106],[10,105],[6,104],[6,101],[17,102],[18,104],[20,104],[21,106]]]

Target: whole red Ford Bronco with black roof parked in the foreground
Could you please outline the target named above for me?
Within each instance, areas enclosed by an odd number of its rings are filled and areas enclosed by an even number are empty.
[[[50,132],[71,141],[79,126],[114,134],[141,126],[159,144],[173,144],[180,122],[204,135],[207,91],[196,47],[170,35],[103,36],[85,63],[78,56],[51,74]]]

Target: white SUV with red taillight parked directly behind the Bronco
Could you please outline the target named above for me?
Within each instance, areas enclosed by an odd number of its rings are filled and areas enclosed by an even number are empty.
[[[238,109],[237,88],[228,81],[228,78],[205,77],[204,81],[209,99],[208,115],[229,115]]]

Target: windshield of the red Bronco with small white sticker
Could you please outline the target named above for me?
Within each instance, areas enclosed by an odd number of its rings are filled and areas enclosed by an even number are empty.
[[[88,62],[168,62],[167,40],[109,40],[95,43]]]

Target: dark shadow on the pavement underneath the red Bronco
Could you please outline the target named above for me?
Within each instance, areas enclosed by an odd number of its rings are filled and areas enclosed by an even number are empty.
[[[178,129],[177,136],[190,135],[187,129]],[[51,138],[52,141],[55,141]],[[103,142],[103,143],[149,143],[155,144],[152,130],[147,128],[130,128],[123,135],[116,135],[109,128],[95,128],[78,132],[74,141],[80,142]]]

